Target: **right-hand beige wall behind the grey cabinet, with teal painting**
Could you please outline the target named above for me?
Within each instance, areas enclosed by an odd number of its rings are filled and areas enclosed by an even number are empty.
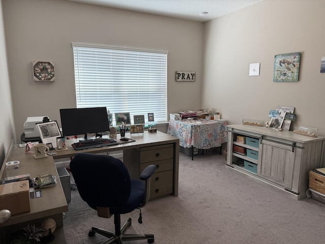
[[[294,106],[294,125],[325,136],[324,10],[323,0],[265,0],[205,23],[202,106],[215,106],[230,124]],[[302,55],[299,81],[273,82],[274,55],[292,52]],[[261,63],[259,76],[248,76],[250,63]]]

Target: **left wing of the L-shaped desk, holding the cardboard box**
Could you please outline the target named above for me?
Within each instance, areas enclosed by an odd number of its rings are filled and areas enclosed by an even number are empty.
[[[51,156],[42,159],[35,159],[34,154],[25,154],[24,147],[11,145],[9,154],[5,162],[20,161],[19,174],[29,173],[30,177],[35,178],[38,174],[52,174],[56,176],[57,185],[49,188],[42,188],[42,197],[30,199],[30,211],[22,214],[13,215],[9,221],[0,224],[0,243],[4,243],[6,232],[13,232],[28,223],[39,224],[41,220],[49,217],[55,220],[56,230],[55,240],[51,243],[66,243],[63,231],[62,212],[68,211],[68,204],[61,186],[61,182]],[[0,175],[1,179],[6,177],[6,165],[3,164]]]

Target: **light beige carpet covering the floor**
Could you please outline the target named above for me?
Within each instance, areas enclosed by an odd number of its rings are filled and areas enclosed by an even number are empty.
[[[113,218],[97,217],[78,191],[71,195],[63,221],[67,242],[102,243],[105,237],[88,237],[88,231],[91,226],[114,231]],[[150,201],[142,216],[143,224],[138,223],[139,210],[121,221],[131,217],[127,233],[152,233],[156,244],[325,243],[325,204],[296,200],[226,167],[224,155],[213,150],[193,161],[180,153],[179,196]]]

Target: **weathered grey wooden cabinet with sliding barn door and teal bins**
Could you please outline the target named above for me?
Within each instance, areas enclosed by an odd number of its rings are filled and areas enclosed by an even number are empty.
[[[246,143],[237,142],[237,136],[245,137]],[[301,199],[308,189],[308,172],[325,167],[324,140],[321,136],[308,137],[292,131],[229,125],[226,165]],[[234,151],[234,145],[246,148],[246,155]]]

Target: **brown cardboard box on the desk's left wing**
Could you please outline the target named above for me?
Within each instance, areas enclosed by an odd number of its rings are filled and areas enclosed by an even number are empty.
[[[0,209],[8,209],[11,215],[30,210],[28,180],[0,185]]]

